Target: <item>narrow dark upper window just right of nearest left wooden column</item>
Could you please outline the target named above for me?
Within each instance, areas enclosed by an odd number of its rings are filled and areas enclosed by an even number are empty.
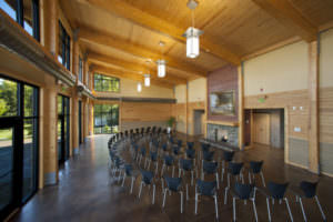
[[[59,21],[59,53],[58,60],[60,63],[70,70],[71,68],[71,38],[67,33],[62,23]]]

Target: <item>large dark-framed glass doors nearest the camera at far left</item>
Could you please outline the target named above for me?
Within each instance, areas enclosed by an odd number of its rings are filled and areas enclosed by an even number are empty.
[[[0,75],[0,221],[37,191],[38,92]]]

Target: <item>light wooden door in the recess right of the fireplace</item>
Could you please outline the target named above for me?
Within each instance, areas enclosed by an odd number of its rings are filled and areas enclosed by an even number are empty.
[[[271,144],[270,114],[254,113],[253,114],[253,123],[254,123],[254,142],[270,145]]]

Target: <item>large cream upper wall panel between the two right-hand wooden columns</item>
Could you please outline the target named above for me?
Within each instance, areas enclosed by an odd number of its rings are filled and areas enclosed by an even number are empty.
[[[244,94],[307,89],[309,47],[296,42],[244,62]]]

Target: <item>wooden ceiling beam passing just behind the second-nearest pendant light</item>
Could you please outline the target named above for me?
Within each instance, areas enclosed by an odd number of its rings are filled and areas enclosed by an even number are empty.
[[[144,47],[133,44],[130,41],[122,40],[107,33],[100,33],[89,28],[80,28],[79,38],[80,41],[114,48],[145,60],[152,59],[153,61],[157,61],[158,59],[161,59],[161,54],[159,52],[154,52]],[[188,73],[193,73],[199,77],[206,77],[206,70],[195,67],[192,63],[179,61],[168,56],[163,56],[163,59],[168,61],[168,67]]]

